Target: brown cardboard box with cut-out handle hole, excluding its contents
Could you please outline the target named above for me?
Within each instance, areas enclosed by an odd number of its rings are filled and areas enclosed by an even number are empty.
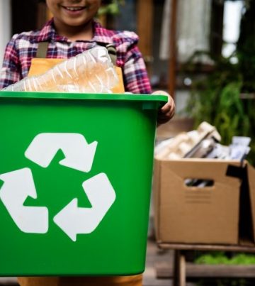
[[[186,179],[212,180],[188,187]],[[154,211],[158,243],[238,244],[255,237],[255,171],[213,159],[157,160]]]

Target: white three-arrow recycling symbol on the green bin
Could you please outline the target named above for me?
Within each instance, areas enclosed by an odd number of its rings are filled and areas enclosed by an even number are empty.
[[[96,146],[96,141],[88,144],[79,133],[40,133],[28,146],[25,156],[41,167],[47,167],[61,149],[65,156],[60,161],[61,165],[89,172]],[[25,233],[47,233],[47,207],[23,206],[27,197],[37,198],[31,170],[25,167],[7,172],[0,175],[0,180],[4,181],[0,189],[0,199],[16,226]],[[53,219],[72,241],[77,241],[78,233],[94,231],[115,201],[113,186],[103,172],[84,181],[82,187],[91,207],[78,207],[78,199],[74,198]]]

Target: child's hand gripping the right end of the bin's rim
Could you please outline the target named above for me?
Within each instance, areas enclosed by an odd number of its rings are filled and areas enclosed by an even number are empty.
[[[175,111],[174,99],[171,97],[170,94],[162,90],[157,90],[157,92],[153,92],[152,94],[167,95],[169,98],[167,103],[164,106],[162,106],[161,109],[159,109],[158,116],[157,116],[158,125],[162,123],[166,123],[174,116],[174,111]]]

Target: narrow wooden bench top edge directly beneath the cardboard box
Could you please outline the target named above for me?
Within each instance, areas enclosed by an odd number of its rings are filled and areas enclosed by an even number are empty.
[[[255,253],[254,244],[241,246],[232,245],[208,245],[208,244],[185,244],[185,243],[158,243],[162,249],[179,249],[185,251],[234,251]]]

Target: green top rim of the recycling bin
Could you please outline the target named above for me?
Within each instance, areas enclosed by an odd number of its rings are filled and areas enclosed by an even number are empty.
[[[0,98],[23,99],[73,99],[73,100],[117,100],[117,101],[157,101],[165,104],[168,97],[164,94],[96,94],[64,92],[11,92],[0,91]]]

